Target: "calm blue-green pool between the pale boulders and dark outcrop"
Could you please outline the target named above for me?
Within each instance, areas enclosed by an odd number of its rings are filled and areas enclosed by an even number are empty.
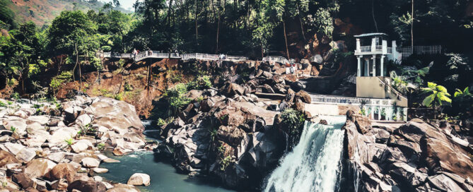
[[[144,121],[144,126],[152,130],[150,122]],[[146,133],[145,133],[146,134]],[[153,138],[147,138],[156,140]],[[166,160],[160,158],[154,152],[133,152],[122,157],[115,157],[111,152],[105,155],[119,163],[102,163],[100,167],[107,168],[108,172],[99,174],[108,181],[116,181],[127,184],[130,176],[134,173],[144,173],[151,177],[151,185],[139,186],[141,191],[189,191],[189,192],[227,192],[218,179],[208,177],[190,177],[187,174],[177,173],[176,169]]]

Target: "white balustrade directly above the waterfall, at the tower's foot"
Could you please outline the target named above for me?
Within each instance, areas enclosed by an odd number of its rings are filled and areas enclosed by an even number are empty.
[[[339,97],[330,95],[310,95],[312,103],[325,104],[354,104],[354,105],[374,105],[374,106],[393,106],[394,101],[388,99],[371,99],[363,97]]]

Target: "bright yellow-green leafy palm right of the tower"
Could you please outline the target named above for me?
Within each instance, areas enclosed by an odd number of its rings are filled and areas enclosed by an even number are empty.
[[[447,88],[442,85],[437,85],[436,83],[428,82],[427,88],[422,88],[424,92],[431,92],[431,95],[428,95],[422,104],[426,107],[432,107],[435,112],[434,118],[437,118],[436,110],[437,107],[442,106],[443,102],[451,103],[452,100],[449,98],[450,93],[448,93]]]

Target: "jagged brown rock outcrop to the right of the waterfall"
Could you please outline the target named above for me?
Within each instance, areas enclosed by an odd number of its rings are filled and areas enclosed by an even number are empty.
[[[471,145],[445,130],[420,119],[395,128],[371,126],[366,117],[347,112],[348,178],[342,186],[346,191],[473,191]]]

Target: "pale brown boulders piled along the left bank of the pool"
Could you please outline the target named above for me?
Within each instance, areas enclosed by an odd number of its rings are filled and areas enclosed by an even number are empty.
[[[103,155],[151,150],[131,104],[77,96],[69,102],[6,101],[0,107],[0,181],[3,191],[139,191],[150,178],[134,174],[128,184],[110,184],[97,174]]]

